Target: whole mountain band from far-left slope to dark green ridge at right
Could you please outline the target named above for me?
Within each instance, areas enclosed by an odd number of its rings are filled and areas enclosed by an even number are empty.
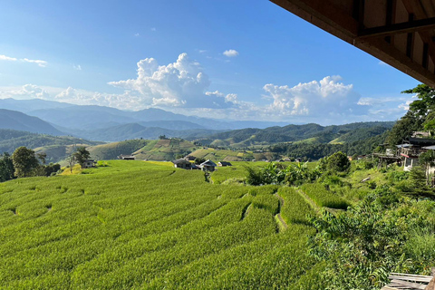
[[[165,135],[198,140],[204,145],[232,148],[279,142],[337,144],[380,135],[391,129],[394,122],[360,122],[338,126],[314,123],[282,126],[283,124],[213,120],[160,109],[121,111],[102,106],[78,106],[43,100],[0,100],[0,129],[54,136],[71,135],[99,141],[156,140]]]

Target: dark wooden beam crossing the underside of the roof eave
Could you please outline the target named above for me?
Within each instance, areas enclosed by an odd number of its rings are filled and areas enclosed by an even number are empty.
[[[404,22],[401,24],[390,24],[360,30],[358,38],[381,37],[391,34],[408,34],[435,28],[435,17]]]

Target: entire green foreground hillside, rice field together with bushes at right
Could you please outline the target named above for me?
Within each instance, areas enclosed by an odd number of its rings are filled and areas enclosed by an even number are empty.
[[[170,162],[111,160],[0,183],[0,281],[324,290],[379,289],[391,271],[428,274],[435,202],[419,198],[424,186],[398,167],[344,160],[234,162],[208,177]]]

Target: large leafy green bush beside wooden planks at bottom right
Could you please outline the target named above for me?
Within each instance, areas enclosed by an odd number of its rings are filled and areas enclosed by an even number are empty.
[[[391,272],[429,270],[433,262],[411,259],[415,251],[406,247],[416,241],[415,229],[431,228],[429,220],[420,216],[415,202],[385,204],[386,196],[391,189],[382,187],[346,212],[324,211],[311,219],[318,231],[311,254],[327,261],[324,289],[379,289]]]

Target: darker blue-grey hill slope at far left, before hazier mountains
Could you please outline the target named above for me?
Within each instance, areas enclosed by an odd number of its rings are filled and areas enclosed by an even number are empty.
[[[64,135],[62,131],[36,117],[31,117],[20,111],[0,109],[0,129],[29,131],[51,135]]]

